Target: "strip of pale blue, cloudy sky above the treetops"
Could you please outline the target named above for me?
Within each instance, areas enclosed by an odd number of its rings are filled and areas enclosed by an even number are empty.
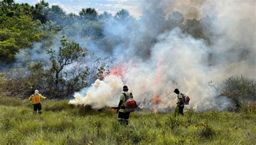
[[[35,5],[40,0],[16,0],[16,3],[28,3],[30,5]],[[112,14],[116,14],[117,11],[121,9],[129,10],[130,14],[139,18],[141,16],[140,3],[142,0],[46,0],[51,5],[58,5],[66,13],[76,13],[82,8],[95,8],[98,13],[103,13],[107,11]]]

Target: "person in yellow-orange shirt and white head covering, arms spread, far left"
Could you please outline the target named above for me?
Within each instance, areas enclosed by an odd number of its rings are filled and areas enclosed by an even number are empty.
[[[42,105],[41,105],[41,99],[46,99],[46,97],[43,97],[38,90],[35,90],[35,93],[29,97],[29,100],[32,101],[34,113],[42,114]]]

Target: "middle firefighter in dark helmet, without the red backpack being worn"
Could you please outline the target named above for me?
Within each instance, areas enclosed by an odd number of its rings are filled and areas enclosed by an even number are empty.
[[[118,104],[118,108],[117,108],[117,113],[118,113],[118,121],[120,122],[120,124],[122,125],[128,125],[129,123],[129,116],[130,116],[130,112],[125,111],[125,98],[128,96],[130,98],[132,97],[132,93],[128,92],[128,87],[125,85],[123,86],[123,91],[125,93],[122,93],[122,95],[120,96],[120,101]]]

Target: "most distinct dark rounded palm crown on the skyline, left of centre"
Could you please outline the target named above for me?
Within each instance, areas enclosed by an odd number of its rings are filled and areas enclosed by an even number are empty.
[[[86,8],[79,12],[79,16],[83,19],[96,20],[98,13],[95,8]]]

